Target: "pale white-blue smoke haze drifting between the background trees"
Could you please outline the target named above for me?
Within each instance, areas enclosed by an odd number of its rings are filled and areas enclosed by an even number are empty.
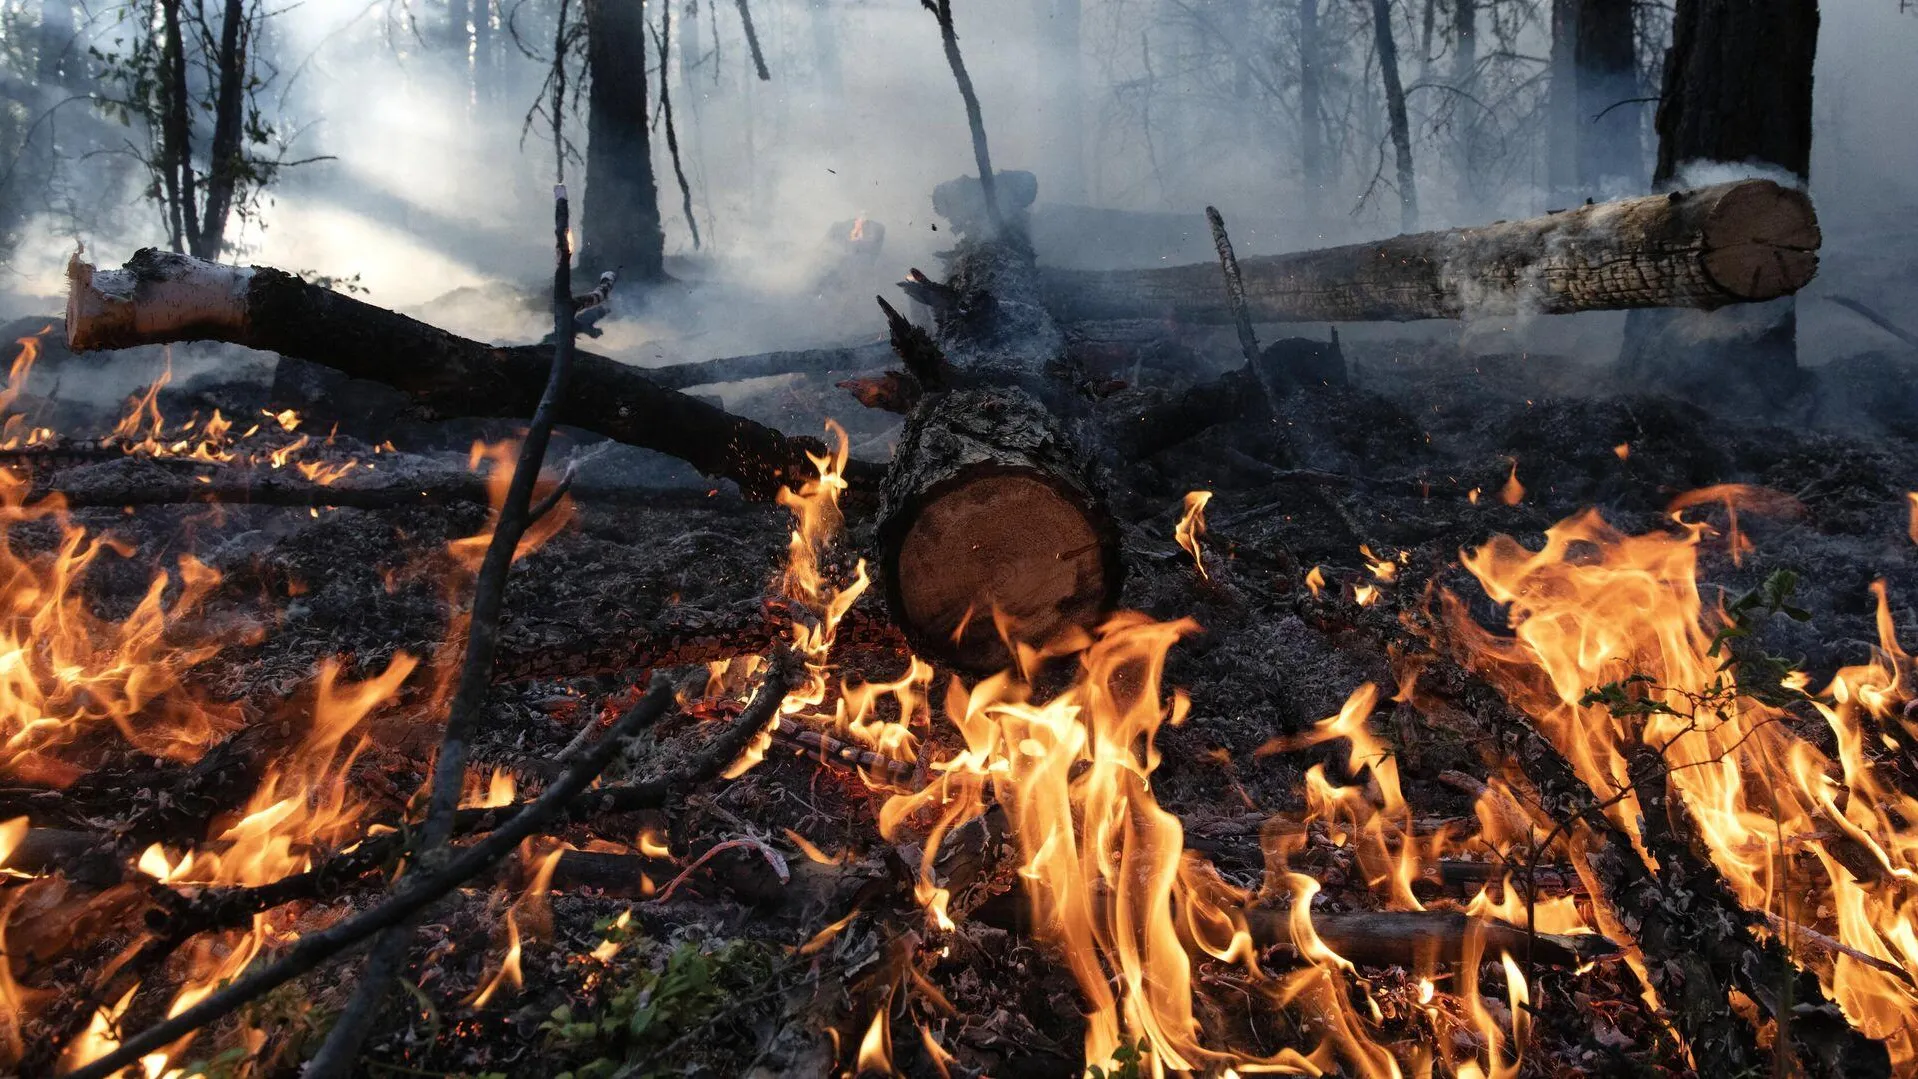
[[[704,243],[692,247],[679,213],[660,126],[652,142],[669,270],[689,287],[644,318],[610,322],[591,347],[652,364],[878,337],[884,324],[871,295],[896,297],[892,282],[909,266],[936,272],[934,255],[951,240],[932,215],[932,188],[976,171],[932,17],[907,0],[754,0],[773,75],[761,82],[733,4],[666,2],[673,121]],[[547,274],[552,146],[543,121],[522,142],[522,121],[547,73],[552,8],[497,10],[495,59],[478,73],[472,56],[443,46],[437,4],[416,0],[409,13],[397,4],[309,0],[276,13],[263,42],[280,73],[269,103],[284,103],[276,123],[299,132],[292,157],[330,159],[284,172],[259,220],[238,230],[232,257],[357,276],[366,299],[455,332],[537,339],[545,330],[537,299],[527,307],[516,295],[537,297]],[[1339,146],[1335,174],[1316,192],[1300,171],[1298,4],[1084,0],[1076,52],[1061,46],[1068,8],[1061,0],[955,4],[994,165],[1040,176],[1041,261],[1208,261],[1205,205],[1224,211],[1241,255],[1396,232],[1377,61],[1360,6],[1320,4],[1320,31],[1339,56],[1325,71],[1327,126]],[[662,10],[660,0],[648,4],[654,21]],[[1488,8],[1481,54],[1504,48],[1544,57],[1548,10]],[[537,56],[512,42],[508,15]],[[1473,121],[1438,86],[1452,59],[1419,57],[1415,6],[1400,10],[1398,21],[1419,226],[1557,209],[1544,184],[1546,80],[1527,80],[1540,67],[1483,65],[1479,100],[1488,117]],[[94,25],[105,33],[104,17]],[[1824,6],[1811,192],[1826,247],[1799,305],[1809,364],[1891,345],[1824,295],[1895,309],[1914,284],[1906,255],[1918,240],[1912,56],[1918,19],[1901,15],[1895,0]],[[654,105],[658,59],[644,57],[654,69]],[[1072,94],[1074,80],[1080,94]],[[583,92],[577,73],[572,92]],[[1655,94],[1655,84],[1642,94]],[[1644,155],[1617,172],[1648,176],[1653,105],[1619,107],[1640,115]],[[1454,146],[1467,123],[1486,134],[1462,184]],[[568,134],[583,146],[583,113],[568,115]],[[163,240],[157,211],[138,205],[144,176],[119,167],[113,184],[107,169],[69,169],[77,184],[94,188],[92,197],[129,207],[117,228],[79,236],[92,259],[117,264]],[[1722,167],[1705,172],[1726,174]],[[1688,178],[1707,182],[1705,172]],[[583,163],[568,163],[568,182],[577,195]],[[1594,195],[1646,190],[1640,182]],[[1097,211],[1051,209],[1059,203]],[[882,255],[821,286],[844,253],[829,230],[861,215],[886,226]],[[54,310],[48,301],[63,291],[59,270],[75,240],[71,224],[56,218],[29,224],[13,276],[0,286],[13,293],[4,314]],[[1348,339],[1437,333],[1469,351],[1586,353],[1611,349],[1621,324],[1611,314],[1490,318],[1358,326]]]

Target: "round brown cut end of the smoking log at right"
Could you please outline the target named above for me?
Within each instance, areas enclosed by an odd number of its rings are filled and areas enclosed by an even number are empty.
[[[1791,295],[1818,272],[1818,215],[1805,192],[1736,184],[1705,218],[1705,272],[1742,301]]]

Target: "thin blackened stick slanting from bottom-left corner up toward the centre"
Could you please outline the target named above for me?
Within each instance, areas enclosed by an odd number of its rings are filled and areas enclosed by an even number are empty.
[[[520,807],[499,830],[470,847],[462,847],[453,859],[435,868],[401,878],[391,895],[378,907],[299,937],[278,960],[242,974],[198,1004],[129,1037],[113,1052],[73,1069],[69,1079],[107,1079],[109,1075],[117,1075],[148,1052],[230,1016],[272,989],[338,958],[368,937],[409,922],[460,884],[512,855],[520,839],[533,836],[547,822],[560,816],[612,765],[625,744],[664,717],[671,705],[671,688],[664,682],[656,684],[652,692],[612,724],[606,736],[585,757],[566,769],[535,801]]]

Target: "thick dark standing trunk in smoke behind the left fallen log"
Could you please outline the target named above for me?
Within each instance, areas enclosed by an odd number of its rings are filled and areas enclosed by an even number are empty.
[[[646,115],[644,0],[589,0],[587,192],[579,215],[579,270],[666,278],[666,232],[652,176]]]

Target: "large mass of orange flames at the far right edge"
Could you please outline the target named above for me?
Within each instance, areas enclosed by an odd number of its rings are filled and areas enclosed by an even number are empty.
[[[1918,799],[1866,755],[1870,730],[1897,726],[1897,705],[1912,696],[1912,663],[1895,640],[1885,588],[1874,586],[1878,654],[1805,701],[1830,726],[1834,759],[1799,738],[1788,713],[1753,700],[1766,688],[1726,690],[1717,644],[1724,615],[1705,606],[1697,585],[1703,531],[1680,521],[1674,533],[1634,537],[1586,512],[1548,529],[1536,552],[1496,537],[1465,552],[1463,563],[1509,608],[1511,634],[1479,629],[1450,594],[1442,594],[1444,623],[1467,663],[1531,713],[1596,792],[1628,792],[1626,751],[1663,747],[1672,799],[1742,903],[1882,960],[1816,954],[1791,941],[1847,1018],[1887,1043],[1893,1068],[1910,1069],[1918,989],[1889,970],[1918,970],[1918,899],[1908,889],[1918,880]],[[1634,694],[1657,709],[1619,717],[1586,703],[1590,688],[1632,675],[1649,678]],[[1636,795],[1625,793],[1609,813],[1638,836]],[[1860,857],[1872,866],[1860,866],[1862,878],[1843,868]]]

